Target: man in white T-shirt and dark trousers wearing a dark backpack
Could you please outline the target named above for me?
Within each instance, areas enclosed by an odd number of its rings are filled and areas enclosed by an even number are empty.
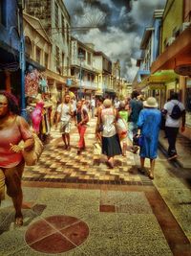
[[[176,140],[181,123],[181,132],[185,130],[185,107],[179,101],[178,93],[174,92],[163,111],[166,113],[165,132],[168,139],[168,160],[177,158]]]

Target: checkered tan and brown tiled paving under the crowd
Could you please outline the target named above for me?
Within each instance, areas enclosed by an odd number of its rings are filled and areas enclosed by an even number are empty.
[[[115,168],[109,169],[104,155],[94,154],[96,119],[86,130],[86,151],[77,155],[77,129],[71,131],[71,150],[64,150],[61,135],[53,129],[53,140],[45,147],[36,166],[26,167],[24,181],[72,182],[95,184],[152,185],[147,176],[139,175],[134,153],[115,157]]]

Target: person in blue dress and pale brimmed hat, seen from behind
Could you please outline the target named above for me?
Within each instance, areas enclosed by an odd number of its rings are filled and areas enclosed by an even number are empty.
[[[149,97],[143,102],[144,108],[138,116],[138,133],[142,135],[142,145],[140,146],[140,168],[138,171],[145,173],[145,158],[150,159],[150,172],[148,176],[154,178],[155,159],[158,156],[159,128],[161,122],[161,113],[158,109],[158,103],[154,97]]]

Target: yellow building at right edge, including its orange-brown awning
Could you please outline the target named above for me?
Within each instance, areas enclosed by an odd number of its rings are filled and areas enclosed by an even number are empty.
[[[186,107],[186,130],[191,138],[191,3],[183,0],[167,0],[162,17],[160,54],[152,63],[151,73],[174,71],[178,78],[165,82],[165,101],[171,93],[180,94]]]

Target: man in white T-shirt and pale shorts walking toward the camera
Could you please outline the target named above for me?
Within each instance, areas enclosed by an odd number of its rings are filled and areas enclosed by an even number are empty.
[[[57,119],[55,128],[59,120],[61,120],[60,132],[62,133],[62,139],[64,142],[64,149],[70,150],[70,131],[71,131],[71,118],[74,114],[74,108],[71,104],[71,97],[69,94],[66,94],[64,97],[64,102],[57,107]]]

